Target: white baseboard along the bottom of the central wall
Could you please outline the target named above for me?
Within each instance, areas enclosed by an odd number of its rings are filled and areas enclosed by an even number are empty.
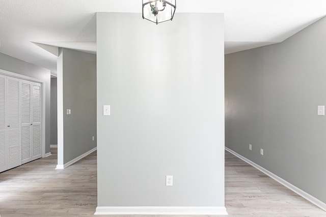
[[[95,215],[227,215],[224,206],[98,206]]]

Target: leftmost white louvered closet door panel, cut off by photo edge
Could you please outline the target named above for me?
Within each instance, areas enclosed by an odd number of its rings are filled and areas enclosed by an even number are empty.
[[[0,172],[7,170],[6,76],[0,75]]]

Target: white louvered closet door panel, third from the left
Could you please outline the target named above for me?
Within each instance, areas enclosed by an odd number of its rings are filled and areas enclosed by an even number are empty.
[[[21,163],[32,161],[32,82],[20,80]]]

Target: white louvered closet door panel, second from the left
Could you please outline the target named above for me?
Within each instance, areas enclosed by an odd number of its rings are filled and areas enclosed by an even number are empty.
[[[7,77],[7,169],[21,165],[19,113],[19,79]]]

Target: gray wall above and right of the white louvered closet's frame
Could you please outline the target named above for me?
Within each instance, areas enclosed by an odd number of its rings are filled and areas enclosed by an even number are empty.
[[[45,86],[45,153],[50,152],[50,70],[0,53],[0,69],[29,76],[44,82]],[[44,87],[43,87],[44,88]]]

